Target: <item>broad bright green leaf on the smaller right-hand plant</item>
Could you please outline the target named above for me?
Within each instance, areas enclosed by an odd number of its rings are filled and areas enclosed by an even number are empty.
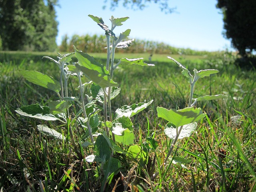
[[[167,110],[166,108],[157,107],[156,110],[158,117],[164,118],[176,127],[197,122],[206,115],[203,114],[201,108],[194,107],[188,107],[181,110]]]

